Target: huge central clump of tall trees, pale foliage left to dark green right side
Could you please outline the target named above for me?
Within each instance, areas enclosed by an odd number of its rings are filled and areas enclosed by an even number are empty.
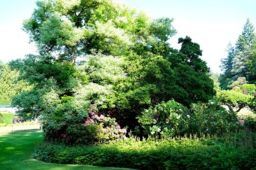
[[[92,105],[134,128],[150,105],[172,98],[189,105],[214,95],[199,44],[189,37],[179,40],[181,50],[168,44],[176,33],[172,19],[150,19],[106,0],[36,4],[24,30],[40,54],[11,62],[33,88],[13,105],[24,118],[40,116],[48,137],[82,123]]]

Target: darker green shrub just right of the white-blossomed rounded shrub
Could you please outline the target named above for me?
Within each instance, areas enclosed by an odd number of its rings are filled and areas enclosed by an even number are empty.
[[[197,136],[220,136],[236,129],[236,114],[226,111],[218,101],[192,104],[189,115],[189,132]]]

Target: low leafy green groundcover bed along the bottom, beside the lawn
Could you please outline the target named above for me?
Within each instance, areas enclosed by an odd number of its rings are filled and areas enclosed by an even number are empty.
[[[254,144],[255,146],[255,144]],[[34,157],[49,163],[69,163],[134,169],[251,169],[255,147],[249,151],[215,140],[126,140],[99,146],[44,143]]]

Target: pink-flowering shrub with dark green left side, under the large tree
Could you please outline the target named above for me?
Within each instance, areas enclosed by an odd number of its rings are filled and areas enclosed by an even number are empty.
[[[61,134],[63,141],[69,144],[98,144],[109,140],[125,139],[127,130],[117,124],[115,118],[104,116],[92,108],[88,112],[88,118],[82,124],[69,126],[65,136]],[[67,140],[68,138],[68,140]]]

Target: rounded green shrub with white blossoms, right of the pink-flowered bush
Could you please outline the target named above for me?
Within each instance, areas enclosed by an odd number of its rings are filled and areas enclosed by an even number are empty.
[[[164,138],[188,132],[188,118],[188,109],[174,100],[144,110],[141,116],[137,117],[146,134]]]

